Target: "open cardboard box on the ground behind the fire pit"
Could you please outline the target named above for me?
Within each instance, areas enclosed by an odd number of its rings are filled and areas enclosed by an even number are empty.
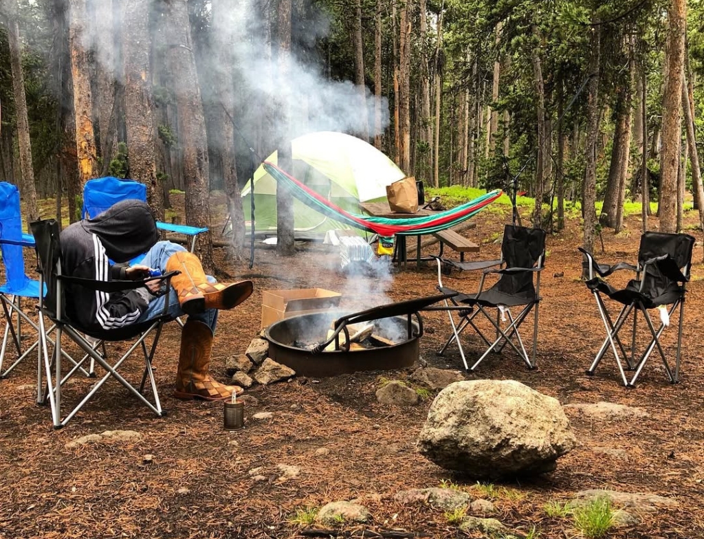
[[[277,320],[337,307],[342,295],[325,288],[265,290],[262,292],[262,327]]]

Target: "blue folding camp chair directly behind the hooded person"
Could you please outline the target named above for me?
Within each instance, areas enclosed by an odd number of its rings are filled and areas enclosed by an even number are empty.
[[[113,204],[134,198],[146,202],[146,185],[134,179],[120,179],[112,176],[90,179],[83,188],[82,217],[87,219],[104,212]],[[183,234],[191,239],[190,251],[196,248],[199,234],[208,232],[206,227],[189,227],[186,224],[156,222],[156,227],[165,232]]]

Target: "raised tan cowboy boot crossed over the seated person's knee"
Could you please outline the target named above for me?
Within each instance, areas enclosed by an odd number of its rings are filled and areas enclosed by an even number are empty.
[[[166,271],[175,270],[181,273],[171,278],[171,286],[178,294],[181,310],[187,315],[196,315],[206,309],[232,309],[249,298],[253,291],[252,281],[209,283],[201,261],[188,251],[171,255],[167,260]]]

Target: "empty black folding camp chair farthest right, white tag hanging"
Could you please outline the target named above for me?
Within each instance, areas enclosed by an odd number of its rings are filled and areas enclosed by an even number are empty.
[[[627,262],[618,262],[612,266],[599,264],[591,253],[581,247],[579,248],[579,251],[586,257],[586,261],[589,264],[589,280],[586,281],[586,286],[596,299],[599,315],[601,315],[606,329],[606,338],[586,374],[594,374],[594,370],[601,362],[606,350],[610,347],[616,357],[616,364],[624,386],[633,387],[648,357],[650,357],[650,353],[655,348],[658,348],[658,353],[660,353],[662,363],[665,365],[665,372],[667,372],[670,382],[677,383],[679,381],[684,296],[686,293],[685,284],[689,281],[694,241],[695,239],[689,234],[646,232],[641,235],[637,265],[631,265]],[[614,288],[603,279],[618,270],[635,272],[636,278],[631,279],[625,288]],[[603,296],[622,305],[616,322],[612,321],[612,317],[604,304]],[[662,350],[660,336],[665,331],[665,328],[670,325],[670,318],[678,307],[677,353],[673,372],[670,368],[670,363],[667,362],[665,352]],[[655,329],[653,320],[648,313],[648,310],[653,309],[660,310],[660,326],[658,329]],[[637,318],[639,312],[643,314],[643,319],[648,326],[650,341],[645,351],[636,359]],[[633,315],[633,330],[629,354],[619,338],[619,331],[624,327],[631,313]],[[630,381],[624,372],[622,359],[628,370],[635,371]]]

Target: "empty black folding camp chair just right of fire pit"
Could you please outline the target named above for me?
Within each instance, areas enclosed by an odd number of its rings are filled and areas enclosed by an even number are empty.
[[[452,334],[439,351],[443,355],[451,343],[455,342],[460,349],[460,356],[465,369],[474,371],[490,352],[499,353],[505,345],[509,345],[520,356],[529,369],[536,363],[538,342],[538,315],[540,297],[540,273],[545,260],[545,238],[543,229],[529,229],[507,224],[503,231],[501,243],[501,258],[482,262],[455,262],[436,258],[438,264],[438,289],[442,293],[456,293],[456,296],[445,300],[445,310],[448,311]],[[498,266],[498,269],[496,269]],[[460,270],[483,270],[477,293],[462,293],[444,286],[442,274],[452,267]],[[484,290],[484,281],[488,275],[497,274],[498,281]],[[511,310],[519,307],[520,312],[513,315]],[[529,313],[533,311],[533,343],[529,355],[518,330]],[[455,321],[453,312],[458,313]],[[485,331],[477,326],[475,318],[479,313],[491,323],[494,336],[487,336]],[[503,327],[502,322],[507,321]],[[460,342],[460,334],[471,326],[488,347],[479,359],[469,367],[465,351]]]

